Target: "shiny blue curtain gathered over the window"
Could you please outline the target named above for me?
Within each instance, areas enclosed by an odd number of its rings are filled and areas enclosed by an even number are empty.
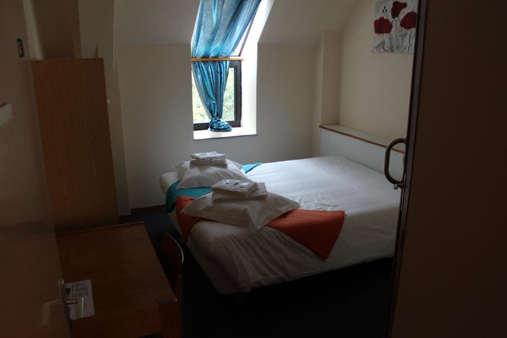
[[[261,0],[201,0],[194,28],[192,57],[231,56]],[[206,107],[211,131],[230,131],[221,121],[229,61],[193,61],[197,91]]]

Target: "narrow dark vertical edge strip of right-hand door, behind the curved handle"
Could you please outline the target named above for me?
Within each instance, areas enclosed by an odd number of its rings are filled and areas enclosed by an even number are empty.
[[[396,244],[394,249],[394,261],[391,275],[391,299],[389,304],[389,322],[386,337],[391,337],[394,324],[394,313],[396,310],[396,298],[400,282],[400,271],[403,260],[403,245],[405,241],[405,230],[407,228],[407,206],[410,198],[410,183],[412,178],[412,166],[414,162],[414,148],[416,140],[417,114],[419,106],[419,90],[421,85],[421,72],[424,53],[424,31],[426,28],[428,0],[419,0],[417,35],[414,46],[414,62],[412,65],[412,84],[410,94],[409,118],[407,123],[407,135],[405,136],[405,173],[403,177],[404,187],[400,199],[400,213],[396,229]]]

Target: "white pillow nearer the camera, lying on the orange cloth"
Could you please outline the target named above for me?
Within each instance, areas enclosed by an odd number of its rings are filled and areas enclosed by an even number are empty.
[[[244,200],[213,203],[213,194],[207,194],[191,202],[182,212],[196,217],[247,227],[255,233],[269,221],[285,212],[299,209],[297,202],[280,195],[268,193],[265,200]]]

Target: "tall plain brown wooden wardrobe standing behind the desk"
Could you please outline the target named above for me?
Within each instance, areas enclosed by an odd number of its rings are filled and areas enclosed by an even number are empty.
[[[31,62],[57,230],[118,222],[103,60]]]

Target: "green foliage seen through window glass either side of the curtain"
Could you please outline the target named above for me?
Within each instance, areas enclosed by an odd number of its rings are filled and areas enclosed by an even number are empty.
[[[194,76],[192,75],[192,109],[194,112],[194,123],[209,122],[206,109],[202,105],[201,98],[195,86]],[[229,68],[227,84],[224,93],[224,113],[222,121],[234,121],[234,68]]]

